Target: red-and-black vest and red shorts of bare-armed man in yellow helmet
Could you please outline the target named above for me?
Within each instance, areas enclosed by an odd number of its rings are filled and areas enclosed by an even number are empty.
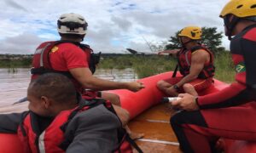
[[[195,52],[207,52],[210,55],[209,62],[205,63],[198,77],[195,80],[188,82],[189,84],[194,86],[197,92],[200,92],[201,90],[208,88],[212,85],[212,77],[214,76],[215,71],[215,67],[213,65],[214,58],[212,52],[201,44],[191,49],[182,48],[177,54],[177,65],[183,77],[189,75],[192,54]],[[183,77],[172,77],[165,81],[174,85],[177,82],[180,82],[183,79]],[[183,93],[183,90],[178,92]]]

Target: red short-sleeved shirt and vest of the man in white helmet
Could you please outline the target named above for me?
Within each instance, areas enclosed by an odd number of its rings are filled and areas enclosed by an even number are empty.
[[[82,84],[73,78],[69,70],[84,67],[94,73],[99,58],[100,54],[93,54],[93,50],[86,44],[70,41],[43,42],[32,59],[32,79],[47,72],[61,73],[73,81],[79,93],[84,94]]]

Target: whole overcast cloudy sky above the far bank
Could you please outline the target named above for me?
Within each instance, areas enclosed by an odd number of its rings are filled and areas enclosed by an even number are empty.
[[[95,52],[150,52],[147,42],[166,42],[184,26],[216,26],[229,0],[1,0],[0,54],[33,54],[40,42],[58,40],[61,14],[82,14],[88,22],[84,43]],[[147,41],[147,42],[146,42]],[[224,47],[229,41],[224,38]]]

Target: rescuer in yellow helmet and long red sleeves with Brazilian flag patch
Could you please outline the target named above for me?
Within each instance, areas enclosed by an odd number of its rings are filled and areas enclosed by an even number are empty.
[[[256,0],[231,0],[220,17],[230,38],[236,82],[223,90],[195,97],[179,94],[172,105],[172,128],[183,152],[213,152],[216,140],[256,140]]]

